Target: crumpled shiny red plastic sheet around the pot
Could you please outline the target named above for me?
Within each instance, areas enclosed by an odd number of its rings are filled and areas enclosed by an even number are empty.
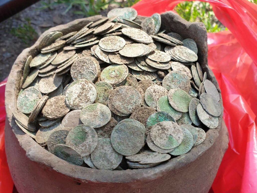
[[[221,88],[229,144],[212,185],[213,192],[257,191],[257,5],[246,0],[209,2],[229,30],[208,33],[208,64]],[[173,10],[182,1],[142,0],[133,7],[150,16]],[[13,182],[4,150],[4,89],[0,83],[0,192]]]

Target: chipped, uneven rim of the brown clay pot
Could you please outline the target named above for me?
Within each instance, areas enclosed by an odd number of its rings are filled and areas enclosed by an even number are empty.
[[[187,22],[183,20],[180,16],[176,15],[173,12],[166,12],[162,14],[167,15],[168,17],[172,17],[171,19],[176,22],[180,22],[180,25],[187,26],[187,28],[192,27],[195,25],[198,29],[200,27],[200,30],[206,34],[206,39],[204,39],[204,43],[200,42],[204,46],[207,47],[207,32],[203,24],[198,22]],[[92,182],[116,182],[116,183],[125,183],[125,182],[133,182],[135,180],[138,180],[139,176],[141,180],[149,180],[158,178],[159,176],[162,176],[165,171],[178,169],[183,166],[186,166],[187,164],[195,161],[198,159],[201,155],[204,154],[204,152],[208,151],[208,149],[214,144],[216,138],[219,135],[219,128],[222,126],[222,115],[219,117],[219,126],[217,129],[209,129],[206,133],[207,137],[206,140],[199,144],[198,146],[193,147],[187,154],[180,155],[176,158],[173,158],[167,162],[164,162],[158,166],[152,167],[152,168],[145,168],[145,169],[137,169],[137,170],[123,170],[123,171],[110,171],[110,170],[97,170],[97,169],[91,169],[86,168],[82,166],[72,165],[65,160],[62,160],[58,158],[57,156],[51,154],[47,150],[45,150],[43,147],[41,147],[38,143],[36,143],[30,136],[26,135],[20,128],[15,124],[15,121],[12,116],[13,109],[16,109],[16,97],[17,93],[20,89],[20,79],[22,77],[22,68],[25,63],[26,58],[29,55],[35,56],[37,53],[37,46],[40,42],[40,40],[43,38],[43,36],[50,32],[50,31],[64,31],[65,29],[72,27],[73,25],[77,25],[76,27],[72,28],[72,30],[66,30],[66,33],[69,33],[71,31],[79,30],[78,28],[83,25],[86,25],[90,21],[95,21],[97,19],[100,19],[102,16],[97,15],[93,17],[88,17],[84,19],[78,19],[74,20],[72,22],[69,22],[64,25],[59,25],[57,27],[51,28],[44,32],[40,38],[36,41],[36,43],[27,49],[24,49],[22,53],[17,57],[17,59],[14,62],[14,65],[11,69],[11,73],[8,77],[8,81],[6,84],[6,90],[5,90],[5,108],[6,108],[6,117],[8,122],[12,128],[12,131],[14,132],[17,140],[20,143],[20,146],[24,149],[26,152],[26,156],[41,165],[45,165],[48,168],[59,172],[62,175],[66,175],[72,179],[80,180],[80,181],[92,181]],[[172,31],[176,32],[176,29],[173,29]],[[182,36],[183,37],[183,36]],[[183,37],[183,38],[189,38],[189,37]],[[199,49],[201,51],[201,49]],[[212,73],[210,71],[209,67],[207,66],[207,53],[202,56],[201,66],[202,68],[207,72],[208,78],[216,85],[219,93],[220,89],[218,87],[217,81]],[[222,103],[222,99],[220,100]],[[39,153],[40,152],[40,153]],[[125,176],[125,177],[124,177]]]

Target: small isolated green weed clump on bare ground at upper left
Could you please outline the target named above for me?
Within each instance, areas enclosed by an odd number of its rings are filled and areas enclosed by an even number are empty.
[[[30,18],[25,18],[25,22],[17,28],[11,29],[11,34],[21,39],[26,45],[29,45],[32,40],[36,40],[38,34],[31,26]]]

